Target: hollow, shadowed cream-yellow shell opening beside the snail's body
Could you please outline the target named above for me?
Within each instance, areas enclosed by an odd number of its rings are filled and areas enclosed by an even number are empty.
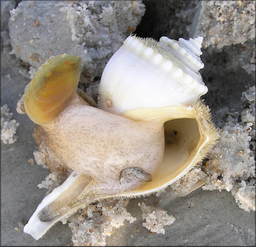
[[[196,119],[173,119],[165,122],[165,151],[164,159],[157,173],[153,177],[148,188],[159,185],[164,188],[185,174],[196,164],[194,157],[197,156],[200,146],[207,137],[201,133]],[[186,172],[185,172],[186,171]],[[172,181],[172,182],[170,182]],[[144,186],[146,189],[147,185]]]

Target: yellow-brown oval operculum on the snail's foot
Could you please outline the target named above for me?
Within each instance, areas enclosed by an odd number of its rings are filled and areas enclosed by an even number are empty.
[[[62,54],[48,59],[25,87],[24,107],[39,125],[53,122],[75,96],[82,59]]]

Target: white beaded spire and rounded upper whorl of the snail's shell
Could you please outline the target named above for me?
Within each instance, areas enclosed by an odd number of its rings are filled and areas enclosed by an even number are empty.
[[[198,73],[204,67],[202,40],[129,36],[103,71],[99,107],[120,115],[136,108],[191,106],[208,91]]]

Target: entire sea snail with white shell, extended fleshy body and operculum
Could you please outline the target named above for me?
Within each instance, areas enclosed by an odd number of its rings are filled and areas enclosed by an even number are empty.
[[[198,73],[202,40],[129,36],[103,71],[98,108],[76,89],[80,57],[54,56],[39,68],[17,111],[36,123],[38,149],[73,172],[42,200],[25,233],[39,239],[99,199],[154,193],[207,155],[220,133],[199,99],[208,90]]]

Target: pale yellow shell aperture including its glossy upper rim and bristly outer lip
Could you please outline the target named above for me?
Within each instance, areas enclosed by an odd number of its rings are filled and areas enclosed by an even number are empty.
[[[154,111],[154,114],[150,114]],[[163,162],[142,188],[118,194],[121,197],[149,195],[175,182],[191,170],[216,144],[219,132],[212,124],[209,108],[200,100],[192,107],[135,109],[122,114],[131,119],[162,119],[165,131]]]

